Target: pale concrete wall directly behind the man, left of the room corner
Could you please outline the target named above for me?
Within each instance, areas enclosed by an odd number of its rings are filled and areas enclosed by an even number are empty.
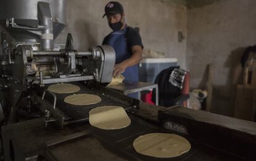
[[[106,0],[67,0],[67,27],[56,42],[64,42],[66,33],[71,32],[75,48],[85,50],[101,44],[111,32],[104,14]],[[177,57],[179,65],[186,68],[186,39],[179,43],[177,32],[187,38],[187,9],[156,0],[119,1],[124,6],[126,22],[139,27],[145,49],[153,49]]]

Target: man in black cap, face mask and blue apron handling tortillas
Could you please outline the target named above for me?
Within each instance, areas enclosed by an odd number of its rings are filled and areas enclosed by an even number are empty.
[[[108,2],[104,17],[113,30],[103,40],[103,44],[112,46],[116,52],[116,65],[113,76],[124,76],[126,82],[139,81],[138,64],[142,60],[142,38],[137,30],[129,27],[124,19],[124,9],[119,2]],[[137,93],[129,94],[137,98]]]

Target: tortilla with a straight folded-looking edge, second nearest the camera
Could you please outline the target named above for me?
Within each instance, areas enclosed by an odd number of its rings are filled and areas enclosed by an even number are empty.
[[[119,106],[101,106],[90,110],[90,125],[104,130],[125,128],[130,125],[126,111]]]

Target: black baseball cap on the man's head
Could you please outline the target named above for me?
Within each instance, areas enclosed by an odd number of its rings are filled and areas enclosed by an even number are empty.
[[[105,15],[114,15],[114,14],[123,14],[124,13],[124,8],[122,7],[122,4],[119,2],[108,2],[105,6],[105,14],[103,15],[102,18],[105,17]]]

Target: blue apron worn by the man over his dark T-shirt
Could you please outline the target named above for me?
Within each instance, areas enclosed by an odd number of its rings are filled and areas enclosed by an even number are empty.
[[[109,35],[108,45],[112,46],[114,48],[114,51],[116,52],[116,64],[119,64],[132,56],[132,53],[129,51],[127,46],[126,29],[113,31]],[[126,83],[138,82],[138,65],[126,68],[122,75],[124,76],[124,82]],[[138,93],[128,94],[128,96],[138,99]]]

